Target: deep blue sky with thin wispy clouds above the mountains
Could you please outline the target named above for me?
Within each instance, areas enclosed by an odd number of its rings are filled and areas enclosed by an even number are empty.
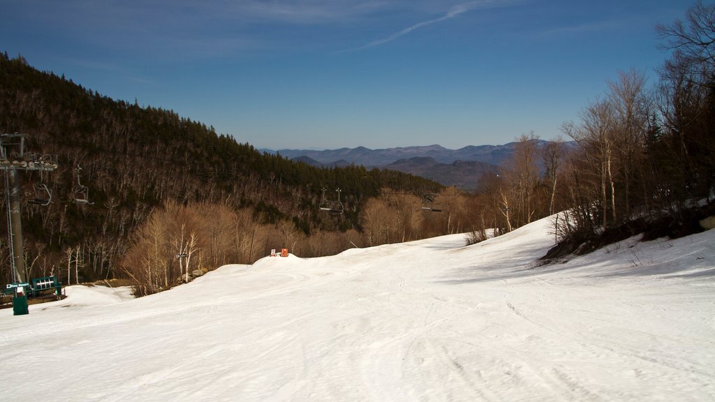
[[[666,0],[0,0],[0,52],[255,147],[552,139],[618,70],[656,82]]]

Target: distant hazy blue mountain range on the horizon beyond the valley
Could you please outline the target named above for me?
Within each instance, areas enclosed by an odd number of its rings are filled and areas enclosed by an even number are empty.
[[[547,141],[538,140],[541,147]],[[485,172],[498,172],[511,162],[516,142],[503,145],[479,145],[448,149],[441,145],[369,149],[365,147],[340,149],[261,149],[278,153],[290,160],[318,167],[363,165],[368,168],[398,170],[435,180],[443,185],[454,185],[463,190],[475,190],[479,177]]]

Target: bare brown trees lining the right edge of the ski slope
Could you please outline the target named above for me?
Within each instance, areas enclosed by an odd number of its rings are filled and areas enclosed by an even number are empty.
[[[697,2],[684,21],[658,24],[656,32],[671,51],[659,81],[618,72],[563,124],[571,142],[559,137],[540,148],[536,135],[522,135],[511,165],[480,180],[477,197],[491,217],[483,227],[511,230],[568,211],[555,217],[561,244],[552,256],[638,233],[701,230],[697,220],[715,213],[715,5]]]

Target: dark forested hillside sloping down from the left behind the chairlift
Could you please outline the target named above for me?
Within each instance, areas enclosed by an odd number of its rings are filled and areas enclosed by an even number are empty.
[[[363,205],[381,189],[423,193],[441,187],[400,172],[358,166],[318,169],[262,154],[170,110],[109,99],[7,54],[0,55],[0,132],[24,133],[26,152],[58,158],[54,172],[21,174],[25,200],[32,199],[35,184],[46,185],[52,195],[47,206],[23,204],[25,255],[29,277],[59,275],[62,270],[63,280],[72,283],[77,276],[93,280],[124,275],[127,269],[119,269],[118,263],[131,257],[133,245],[140,243],[134,237],[152,212],[165,210],[167,203],[214,223],[220,214],[234,215],[234,240],[246,232],[252,237],[246,253],[215,250],[209,255],[207,250],[216,245],[209,247],[206,237],[216,233],[202,234],[194,244],[197,250],[202,244],[204,267],[199,268],[211,269],[248,263],[265,255],[265,248],[290,246],[282,236],[271,239],[259,226],[280,227],[292,235],[345,235],[360,230]],[[89,188],[92,205],[71,202],[78,180]],[[337,198],[340,188],[344,213],[319,209],[323,188],[328,199]],[[184,226],[187,238],[192,233],[199,237],[200,225],[192,226],[189,218],[174,216],[171,221]],[[162,229],[164,234],[172,231]],[[7,237],[0,241],[0,280],[9,281]],[[164,242],[162,248],[172,248],[172,240]],[[173,256],[176,251],[165,253]],[[332,252],[335,247],[317,247],[309,254]]]

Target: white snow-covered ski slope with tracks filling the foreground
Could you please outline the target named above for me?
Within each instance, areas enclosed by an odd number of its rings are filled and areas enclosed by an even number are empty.
[[[714,401],[715,230],[538,266],[548,220],[0,311],[1,401]]]

